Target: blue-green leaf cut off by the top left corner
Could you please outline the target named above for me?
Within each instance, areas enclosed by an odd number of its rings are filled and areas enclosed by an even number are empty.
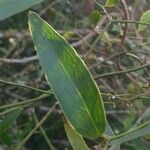
[[[0,0],[0,20],[24,11],[43,0]]]

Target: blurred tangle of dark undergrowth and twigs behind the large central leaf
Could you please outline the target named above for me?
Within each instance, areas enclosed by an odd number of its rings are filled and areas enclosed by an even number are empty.
[[[150,8],[150,4],[144,0],[126,2],[130,20],[139,20],[142,13]],[[104,4],[105,1],[99,0],[99,3]],[[130,68],[150,63],[149,28],[138,33],[137,24],[128,24],[127,34],[123,37],[125,24],[119,22],[109,24],[105,12],[92,0],[45,0],[30,10],[36,11],[61,33],[85,61],[102,92],[108,122],[114,133],[127,131],[149,119],[149,68],[126,73]],[[101,13],[100,20],[95,16],[92,17],[95,10]],[[127,19],[120,3],[106,10],[113,19]],[[28,10],[0,22],[0,79],[49,90],[35,56],[36,52],[28,30],[27,14]],[[124,70],[124,73],[101,76],[121,70]],[[40,94],[20,86],[0,83],[0,106],[26,101]],[[26,106],[9,129],[9,137],[1,141],[0,149],[15,150],[16,145],[36,124],[33,112],[40,120],[55,101],[52,95]],[[71,149],[64,132],[59,106],[42,127],[53,146],[60,150]],[[96,149],[93,146],[98,145],[98,142],[99,140],[87,141],[92,149]],[[147,136],[126,142],[121,149],[149,150],[149,147],[150,137]],[[39,130],[26,142],[26,148],[49,149]]]

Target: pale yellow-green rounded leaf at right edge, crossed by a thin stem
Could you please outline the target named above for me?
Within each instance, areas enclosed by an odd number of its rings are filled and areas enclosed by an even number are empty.
[[[150,23],[150,10],[147,10],[143,13],[143,15],[140,18],[141,23]],[[138,31],[143,31],[147,28],[147,25],[139,24]]]

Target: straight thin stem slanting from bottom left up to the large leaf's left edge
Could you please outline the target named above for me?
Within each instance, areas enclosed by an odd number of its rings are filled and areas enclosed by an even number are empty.
[[[32,129],[32,131],[24,138],[24,140],[18,145],[18,147],[16,148],[16,150],[19,150],[22,148],[22,146],[27,142],[27,140],[32,136],[32,134],[46,121],[46,119],[49,117],[49,115],[52,113],[52,111],[54,110],[54,108],[56,107],[55,103],[50,109],[49,111],[46,113],[46,115],[40,120],[40,122],[38,124],[36,124],[36,126]]]

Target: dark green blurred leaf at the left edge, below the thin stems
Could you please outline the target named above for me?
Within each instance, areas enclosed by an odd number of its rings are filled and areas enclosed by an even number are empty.
[[[21,113],[20,108],[8,113],[0,122],[0,136],[9,128],[9,126],[18,118]]]

